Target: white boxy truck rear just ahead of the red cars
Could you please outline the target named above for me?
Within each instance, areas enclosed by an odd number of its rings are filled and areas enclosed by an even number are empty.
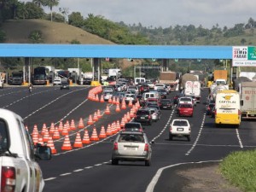
[[[184,87],[185,96],[193,96],[196,102],[200,102],[201,99],[201,82],[200,81],[186,81]]]

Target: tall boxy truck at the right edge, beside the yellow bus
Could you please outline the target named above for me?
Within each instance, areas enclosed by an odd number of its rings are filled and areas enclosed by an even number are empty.
[[[241,119],[256,119],[256,82],[241,82]]]

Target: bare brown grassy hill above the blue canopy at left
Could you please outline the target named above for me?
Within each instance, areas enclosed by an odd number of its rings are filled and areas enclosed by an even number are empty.
[[[36,30],[42,32],[43,44],[113,44],[78,27],[49,20],[8,20],[0,29],[6,33],[5,43],[11,44],[31,43],[29,34]]]

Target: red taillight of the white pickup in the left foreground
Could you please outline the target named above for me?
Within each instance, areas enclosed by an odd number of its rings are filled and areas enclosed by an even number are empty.
[[[2,166],[1,192],[15,191],[16,172],[13,166]]]

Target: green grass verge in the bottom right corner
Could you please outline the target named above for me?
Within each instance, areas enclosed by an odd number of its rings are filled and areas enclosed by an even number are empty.
[[[220,163],[220,171],[243,191],[256,191],[256,150],[236,151]]]

